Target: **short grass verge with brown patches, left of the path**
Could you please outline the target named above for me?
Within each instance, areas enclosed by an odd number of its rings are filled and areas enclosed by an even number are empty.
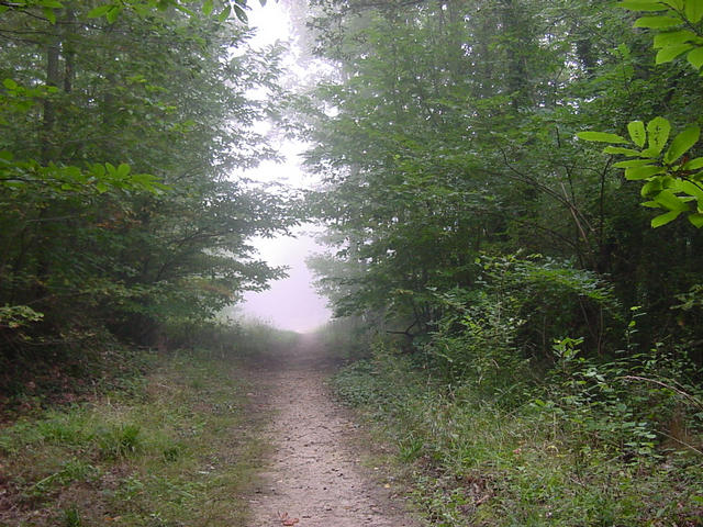
[[[0,525],[242,525],[260,445],[246,386],[205,352],[0,429]]]

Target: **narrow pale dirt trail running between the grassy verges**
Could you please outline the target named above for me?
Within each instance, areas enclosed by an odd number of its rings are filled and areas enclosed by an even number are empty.
[[[417,527],[392,495],[359,464],[357,431],[324,384],[333,363],[311,337],[252,370],[260,412],[274,415],[266,439],[274,446],[252,495],[247,527]],[[288,516],[286,516],[288,515]]]

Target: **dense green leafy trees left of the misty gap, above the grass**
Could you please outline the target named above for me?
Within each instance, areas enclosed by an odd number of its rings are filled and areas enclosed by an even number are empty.
[[[253,126],[279,113],[279,49],[226,3],[0,7],[2,391],[110,340],[166,347],[283,276],[247,238],[295,223],[292,198],[241,177],[277,157]]]

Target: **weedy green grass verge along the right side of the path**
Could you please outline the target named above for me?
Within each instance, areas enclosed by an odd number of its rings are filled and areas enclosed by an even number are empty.
[[[539,405],[449,388],[382,348],[334,382],[395,445],[433,525],[703,525],[703,464],[690,450],[623,457]]]

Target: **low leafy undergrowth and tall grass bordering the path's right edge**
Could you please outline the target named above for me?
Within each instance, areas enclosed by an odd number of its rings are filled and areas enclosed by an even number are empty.
[[[571,354],[562,369],[517,382],[509,404],[503,386],[491,396],[484,379],[448,382],[421,354],[386,345],[335,386],[397,446],[433,525],[703,525],[696,410],[665,386],[615,382],[617,362],[579,361],[576,340],[558,345]],[[685,414],[685,440],[672,439],[665,405]]]

